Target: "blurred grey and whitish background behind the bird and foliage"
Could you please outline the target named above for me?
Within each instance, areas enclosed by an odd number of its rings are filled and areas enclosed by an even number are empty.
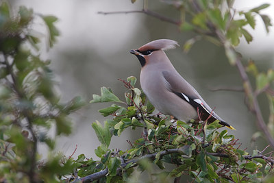
[[[216,107],[215,111],[219,116],[236,128],[236,131],[229,130],[229,133],[240,139],[241,148],[250,147],[251,137],[258,131],[258,127],[253,114],[245,106],[243,93],[211,90],[242,84],[238,71],[229,65],[221,47],[201,40],[189,53],[184,53],[182,45],[194,36],[191,32],[180,32],[177,26],[145,14],[98,14],[98,12],[142,10],[140,0],[134,4],[129,0],[10,0],[9,2],[12,8],[25,5],[27,8],[33,8],[34,12],[58,17],[59,21],[56,24],[60,30],[58,41],[53,49],[44,48],[41,55],[52,61],[51,68],[60,83],[62,101],[68,101],[76,95],[90,101],[92,94],[100,94],[101,86],[111,87],[120,99],[124,99],[126,88],[123,88],[123,84],[118,79],[126,79],[130,75],[138,78],[140,74],[140,64],[129,50],[137,49],[151,40],[169,38],[177,40],[181,45],[167,52],[177,71],[195,86],[212,108]],[[262,3],[273,4],[273,1],[238,0],[234,6],[237,10],[247,10]],[[149,9],[179,19],[179,12],[175,12],[172,7],[169,8],[161,1],[150,2]],[[274,5],[263,12],[274,19]],[[42,25],[41,27],[38,25],[37,28],[45,32]],[[254,36],[253,42],[247,45],[245,40],[242,40],[237,48],[238,51],[245,60],[252,58],[261,70],[274,68],[273,27],[267,35],[260,17],[256,17],[256,30],[249,29],[249,31]],[[137,86],[140,87],[140,84],[138,83]],[[264,105],[266,102],[266,99],[262,98],[260,104],[266,106]],[[74,121],[73,134],[58,139],[58,150],[70,156],[77,145],[75,157],[85,154],[86,157],[95,158],[94,149],[99,146],[99,141],[91,123],[95,120],[101,122],[106,120],[97,110],[107,106],[109,103],[88,103],[86,108],[73,115],[71,117]],[[267,121],[268,111],[264,108],[262,110]],[[112,138],[110,148],[128,149],[129,144],[126,140],[140,138],[140,133],[138,131],[135,133],[125,131],[120,138]],[[262,149],[267,144],[263,138],[259,138],[254,145]],[[39,152],[47,154],[47,149],[40,146]]]

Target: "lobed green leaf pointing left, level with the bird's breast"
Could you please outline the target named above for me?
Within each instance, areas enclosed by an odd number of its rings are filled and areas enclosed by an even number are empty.
[[[97,102],[108,102],[108,101],[115,101],[115,102],[122,102],[116,95],[112,93],[110,88],[102,87],[101,88],[101,97],[99,95],[92,95],[93,99],[90,103],[97,103]]]

